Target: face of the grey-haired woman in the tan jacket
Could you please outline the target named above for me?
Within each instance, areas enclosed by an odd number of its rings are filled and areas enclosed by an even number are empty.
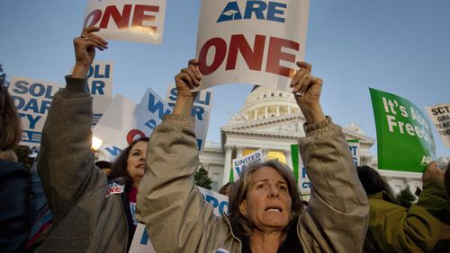
[[[292,199],[283,176],[272,167],[261,167],[251,176],[239,213],[261,231],[279,231],[289,223],[291,206]]]

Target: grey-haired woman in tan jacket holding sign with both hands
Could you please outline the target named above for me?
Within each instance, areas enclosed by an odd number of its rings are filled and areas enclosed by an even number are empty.
[[[174,111],[153,131],[139,186],[138,219],[157,252],[359,252],[369,206],[340,126],[320,106],[322,81],[299,62],[291,87],[306,118],[299,140],[313,190],[302,210],[293,173],[276,161],[247,167],[229,215],[216,217],[193,186],[199,155],[191,108],[197,60],[175,76]],[[300,94],[300,95],[298,95]]]

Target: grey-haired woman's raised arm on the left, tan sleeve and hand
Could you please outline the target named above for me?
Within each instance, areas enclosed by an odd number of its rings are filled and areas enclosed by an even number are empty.
[[[148,142],[137,217],[146,224],[157,252],[206,252],[202,247],[209,243],[214,234],[210,230],[216,229],[219,220],[193,184],[199,157],[191,116],[196,94],[190,89],[199,81],[197,62],[190,61],[175,76],[178,93],[173,113],[155,128]]]

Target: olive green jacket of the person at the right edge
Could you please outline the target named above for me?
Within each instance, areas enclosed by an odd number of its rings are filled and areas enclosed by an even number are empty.
[[[439,240],[450,240],[450,201],[437,183],[427,184],[410,209],[369,196],[368,237],[385,252],[430,252]]]

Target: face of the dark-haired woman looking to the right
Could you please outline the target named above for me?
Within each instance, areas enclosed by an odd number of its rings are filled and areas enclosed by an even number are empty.
[[[147,154],[147,142],[138,142],[133,145],[128,153],[127,171],[133,180],[132,186],[137,188],[140,179],[145,172],[145,156]]]

